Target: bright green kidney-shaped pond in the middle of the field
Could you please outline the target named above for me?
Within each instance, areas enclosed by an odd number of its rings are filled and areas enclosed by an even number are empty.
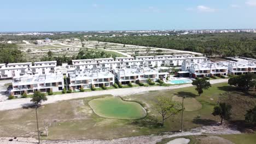
[[[119,97],[98,98],[89,101],[94,112],[101,117],[117,119],[139,119],[147,115],[143,107]]]

